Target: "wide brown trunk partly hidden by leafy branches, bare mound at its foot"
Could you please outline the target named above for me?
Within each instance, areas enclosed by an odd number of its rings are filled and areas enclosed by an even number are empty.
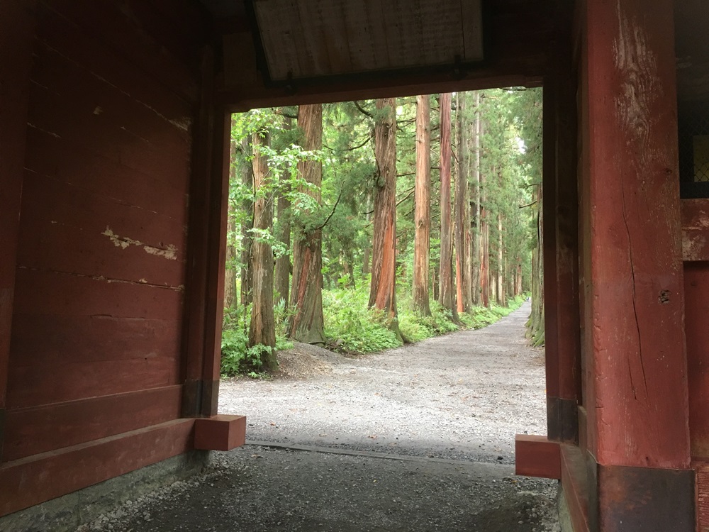
[[[320,150],[323,143],[323,106],[298,107],[298,128],[303,132],[305,150]],[[298,172],[310,186],[301,189],[320,204],[323,163],[320,160],[298,162]],[[322,226],[302,226],[294,234],[293,286],[288,336],[303,343],[324,343],[323,331],[323,237]]]

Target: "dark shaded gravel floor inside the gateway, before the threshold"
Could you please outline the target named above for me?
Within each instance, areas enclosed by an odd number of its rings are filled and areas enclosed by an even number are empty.
[[[557,483],[513,467],[246,445],[81,531],[558,531]]]

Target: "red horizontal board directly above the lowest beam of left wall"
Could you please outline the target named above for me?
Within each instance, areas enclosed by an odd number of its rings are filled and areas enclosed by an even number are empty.
[[[182,386],[91,397],[7,412],[2,462],[179,418]]]

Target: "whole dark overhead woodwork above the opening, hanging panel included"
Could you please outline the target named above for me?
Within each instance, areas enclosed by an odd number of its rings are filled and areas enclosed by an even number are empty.
[[[233,111],[537,87],[554,50],[569,49],[574,7],[573,0],[196,1],[211,13],[218,43],[216,99]]]

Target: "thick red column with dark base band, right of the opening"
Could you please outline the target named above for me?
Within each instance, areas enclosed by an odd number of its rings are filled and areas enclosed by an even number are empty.
[[[693,531],[673,1],[585,15],[591,524]]]

